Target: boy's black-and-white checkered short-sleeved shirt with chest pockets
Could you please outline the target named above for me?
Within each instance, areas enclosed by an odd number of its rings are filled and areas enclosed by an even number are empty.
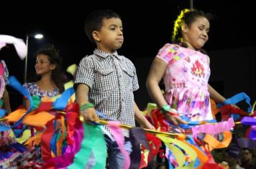
[[[139,89],[139,84],[136,69],[129,59],[117,52],[109,54],[95,49],[80,62],[75,77],[75,84],[78,83],[90,87],[88,99],[105,116],[102,119],[135,126],[133,91]],[[124,135],[128,137],[129,132],[124,130]]]

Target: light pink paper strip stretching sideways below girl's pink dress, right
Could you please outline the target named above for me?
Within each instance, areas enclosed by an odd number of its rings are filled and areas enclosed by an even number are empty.
[[[232,117],[225,122],[218,122],[216,124],[198,125],[198,126],[192,127],[193,137],[196,137],[196,135],[199,132],[215,135],[220,132],[229,131],[233,126],[234,126],[234,120]]]

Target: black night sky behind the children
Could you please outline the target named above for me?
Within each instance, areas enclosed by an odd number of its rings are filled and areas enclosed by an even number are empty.
[[[213,14],[209,42],[204,49],[211,58],[210,84],[225,97],[245,92],[255,101],[256,90],[256,14],[250,0],[194,0],[193,7]],[[35,74],[35,52],[42,44],[51,43],[60,49],[63,69],[78,64],[91,54],[93,44],[83,30],[87,14],[96,9],[112,9],[122,16],[124,44],[119,49],[134,62],[140,82],[135,100],[140,108],[151,102],[145,89],[145,79],[158,49],[170,42],[173,21],[180,9],[189,8],[190,1],[1,1],[0,34],[21,39],[26,34],[40,32],[45,39],[29,37],[28,77]],[[1,59],[9,74],[23,83],[24,61],[17,57],[12,45],[3,48]],[[12,109],[22,103],[22,97],[9,90]]]

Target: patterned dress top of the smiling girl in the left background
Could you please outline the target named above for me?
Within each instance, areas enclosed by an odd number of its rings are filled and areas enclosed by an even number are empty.
[[[37,95],[37,96],[40,97],[40,99],[41,99],[42,97],[45,97],[45,96],[47,96],[47,97],[55,97],[55,96],[57,96],[57,95],[59,94],[58,88],[56,88],[56,89],[54,89],[54,90],[52,90],[52,91],[50,91],[50,92],[47,92],[47,91],[45,91],[45,90],[41,90],[41,89],[37,86],[37,84],[36,84],[35,82],[24,83],[24,84],[23,84],[23,87],[24,87],[25,89],[27,89],[27,91],[29,92],[29,94],[30,94],[31,96]]]

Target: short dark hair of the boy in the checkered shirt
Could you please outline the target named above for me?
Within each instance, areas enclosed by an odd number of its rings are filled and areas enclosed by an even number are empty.
[[[119,14],[116,14],[114,11],[109,9],[93,11],[86,17],[84,29],[86,31],[86,36],[91,40],[91,42],[94,43],[92,36],[93,31],[99,31],[101,29],[103,20],[111,18],[121,19]]]

